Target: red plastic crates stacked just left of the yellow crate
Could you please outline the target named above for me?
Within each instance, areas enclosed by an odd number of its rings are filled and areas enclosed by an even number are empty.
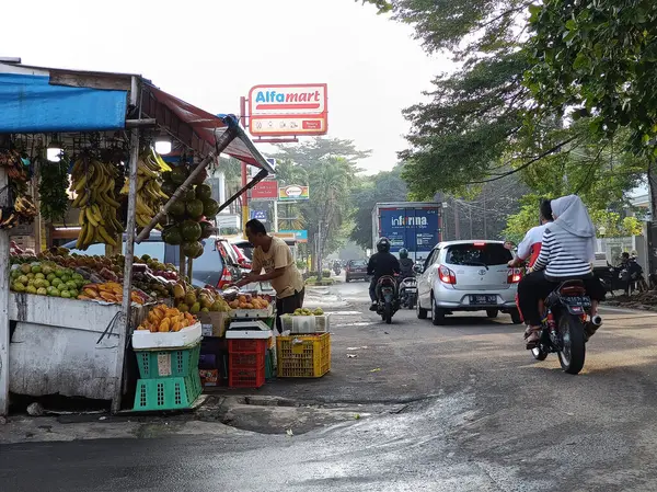
[[[269,339],[228,340],[228,386],[260,388],[265,384]]]

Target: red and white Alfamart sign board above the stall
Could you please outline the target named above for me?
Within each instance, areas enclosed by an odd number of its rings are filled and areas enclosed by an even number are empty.
[[[249,92],[249,128],[255,136],[325,135],[325,83],[255,85]]]

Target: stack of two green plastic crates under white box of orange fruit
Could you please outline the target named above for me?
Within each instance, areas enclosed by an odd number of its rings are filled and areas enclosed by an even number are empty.
[[[188,409],[200,396],[200,341],[191,347],[135,351],[135,354],[140,376],[135,411]]]

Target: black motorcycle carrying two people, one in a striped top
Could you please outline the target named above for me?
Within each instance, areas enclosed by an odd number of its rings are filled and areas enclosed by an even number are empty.
[[[556,352],[562,369],[578,374],[584,367],[586,342],[602,324],[595,316],[587,321],[591,299],[581,281],[566,281],[545,299],[545,316],[541,337],[531,353],[537,361],[545,361]]]

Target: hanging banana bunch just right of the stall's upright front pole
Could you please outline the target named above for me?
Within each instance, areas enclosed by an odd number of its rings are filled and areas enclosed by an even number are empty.
[[[139,227],[148,226],[158,211],[160,211],[162,201],[168,198],[161,187],[160,172],[163,170],[163,167],[158,158],[159,156],[149,149],[139,156],[139,161],[137,162],[136,221]],[[129,180],[126,179],[120,193],[127,195],[128,190]],[[157,225],[155,228],[162,230],[160,225]]]

